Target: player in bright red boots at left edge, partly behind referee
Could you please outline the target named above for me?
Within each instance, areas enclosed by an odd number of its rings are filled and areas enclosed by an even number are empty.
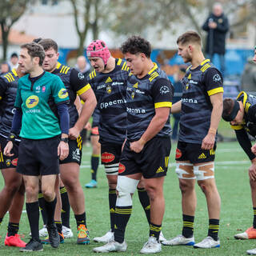
[[[0,77],[0,168],[5,182],[5,186],[0,192],[0,223],[2,223],[2,219],[7,210],[9,210],[10,221],[8,224],[5,245],[18,247],[26,246],[26,242],[23,242],[18,235],[25,193],[22,174],[16,172],[20,138],[17,137],[14,141],[13,156],[6,157],[6,155],[3,154],[3,149],[6,146],[7,138],[10,134],[11,122],[14,117],[14,102],[17,92],[18,78],[22,77],[22,75],[20,67],[18,67],[18,69],[13,69]]]

